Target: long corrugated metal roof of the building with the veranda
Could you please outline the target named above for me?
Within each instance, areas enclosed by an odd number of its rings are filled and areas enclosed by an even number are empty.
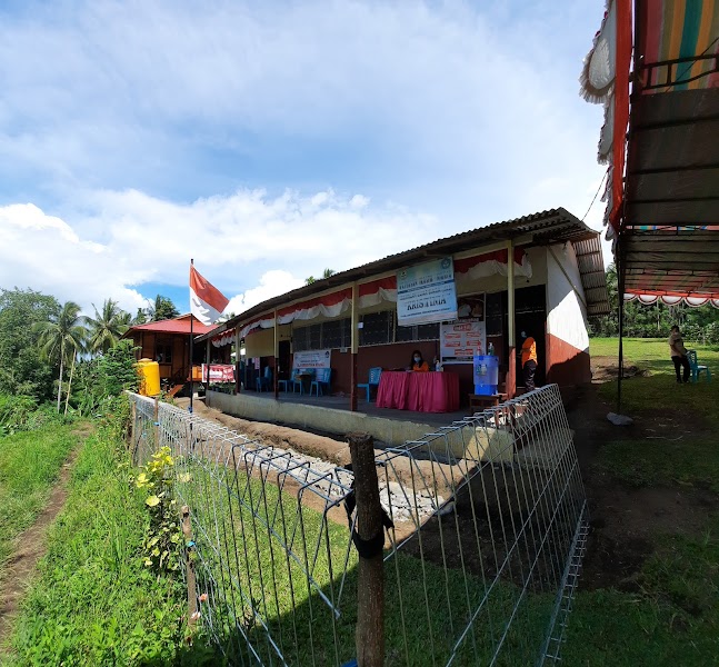
[[[317,280],[311,285],[300,287],[279,297],[273,297],[223,322],[213,334],[221,334],[222,331],[234,328],[239,322],[248,322],[272,308],[284,306],[289,301],[309,298],[336,286],[361,280],[372,275],[398,270],[410,263],[420,262],[430,257],[437,257],[439,253],[452,255],[482,243],[487,245],[496,241],[520,239],[527,236],[531,238],[522,241],[521,246],[525,248],[563,243],[566,241],[576,243],[577,241],[599,237],[598,232],[587,227],[587,225],[563,208],[550,209],[503,222],[493,222],[492,225],[438,239],[431,243],[405,250],[403,252],[389,255],[388,257],[360,267],[334,273],[330,278]]]

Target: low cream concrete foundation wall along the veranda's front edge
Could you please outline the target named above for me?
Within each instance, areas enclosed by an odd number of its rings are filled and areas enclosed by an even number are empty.
[[[365,412],[283,402],[274,400],[268,395],[260,398],[249,394],[232,396],[208,391],[206,400],[211,408],[243,419],[284,424],[339,435],[361,431],[370,434],[376,440],[392,446],[401,446],[407,440],[416,440],[437,429],[436,426],[428,424],[396,421],[382,417],[371,417]]]

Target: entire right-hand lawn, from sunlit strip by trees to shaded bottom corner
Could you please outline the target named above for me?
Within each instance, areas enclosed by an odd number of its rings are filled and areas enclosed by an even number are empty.
[[[592,357],[616,357],[617,342],[592,339]],[[563,654],[568,665],[719,664],[719,350],[687,347],[716,370],[711,384],[678,386],[666,340],[625,340],[627,364],[650,371],[622,381],[621,411],[637,419],[639,431],[632,438],[618,428],[595,469],[630,489],[699,498],[706,522],[695,531],[655,530],[653,552],[633,590],[580,585]],[[616,391],[616,381],[599,388],[612,409]]]

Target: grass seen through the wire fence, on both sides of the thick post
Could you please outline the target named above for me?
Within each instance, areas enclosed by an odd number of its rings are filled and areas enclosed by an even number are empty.
[[[234,499],[229,506],[227,496],[217,495],[217,481],[212,484],[206,470],[191,461],[179,461],[178,465],[183,466],[184,474],[190,477],[182,492],[192,507],[193,520],[206,526],[218,520],[219,535],[237,536],[237,542],[228,540],[229,557],[224,555],[220,565],[201,535],[196,535],[202,556],[198,566],[200,590],[207,590],[211,599],[217,599],[213,581],[222,580],[223,570],[226,581],[228,574],[237,581],[232,587],[234,609],[219,605],[206,608],[206,613],[212,617],[212,625],[222,627],[228,620],[230,626],[233,625],[236,619],[241,619],[249,611],[247,600],[252,598],[288,664],[334,665],[351,659],[356,655],[358,588],[354,548],[349,552],[348,575],[342,598],[338,600],[349,541],[347,527],[323,521],[321,514],[298,506],[296,498],[280,494],[274,485],[262,485],[254,478],[249,479],[248,485],[247,477],[241,474],[238,475],[239,486],[234,494],[246,504],[259,508],[259,511],[253,515],[247,505]],[[209,502],[208,499],[212,497],[214,502]],[[300,530],[300,518],[303,532]],[[312,577],[327,598],[334,600],[341,610],[339,618],[333,618],[317,590],[308,588],[303,565],[286,558],[280,541],[272,537],[268,526],[283,539],[287,535],[287,541],[292,542],[293,552],[302,564],[307,556]],[[450,521],[447,529],[451,531],[452,528]],[[316,558],[317,544],[321,548]],[[328,550],[333,570],[330,569]],[[229,597],[227,583],[224,588]],[[486,591],[487,586],[479,577],[465,576],[460,569],[445,569],[430,561],[422,565],[419,559],[403,552],[397,560],[389,560],[385,589],[388,664],[420,667],[446,664]],[[244,603],[239,601],[242,594],[246,596]],[[485,610],[475,623],[476,629],[470,631],[453,664],[475,664],[476,656],[483,656],[486,663],[490,661],[501,634],[501,620],[510,618],[519,594],[518,588],[506,581],[498,583],[488,593]],[[523,598],[497,665],[533,661],[553,603],[551,594],[528,594]],[[488,633],[488,628],[492,628],[492,633]],[[272,664],[264,631],[256,627],[251,637],[263,664]],[[226,639],[231,646],[236,637],[228,631]],[[237,647],[241,649],[242,643],[238,641]]]

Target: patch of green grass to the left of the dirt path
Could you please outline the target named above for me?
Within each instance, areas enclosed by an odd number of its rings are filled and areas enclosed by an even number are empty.
[[[0,438],[0,579],[17,537],[34,522],[78,439],[67,425]]]

